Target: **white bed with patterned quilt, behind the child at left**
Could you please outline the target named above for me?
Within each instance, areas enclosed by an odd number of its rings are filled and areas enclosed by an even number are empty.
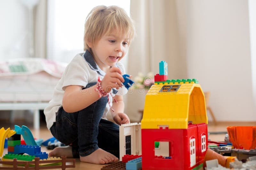
[[[34,110],[34,128],[39,129],[39,110],[52,99],[66,66],[40,58],[0,62],[0,110]]]

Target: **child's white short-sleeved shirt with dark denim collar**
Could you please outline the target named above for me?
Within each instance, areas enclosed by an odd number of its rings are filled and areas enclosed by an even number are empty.
[[[116,63],[115,67],[119,67],[122,74],[125,74],[124,65],[122,63]],[[102,80],[105,74],[106,73],[95,63],[90,52],[86,51],[85,53],[76,54],[66,67],[60,81],[56,85],[52,100],[44,109],[47,128],[50,130],[53,123],[56,122],[56,113],[62,107],[62,99],[67,86],[79,85],[86,87],[88,83],[97,82],[98,76],[100,76],[100,80]],[[118,91],[116,89],[113,91],[117,92],[116,95],[123,95],[126,94],[128,90],[122,86]],[[112,93],[112,95],[115,96],[114,93]],[[111,96],[109,96],[109,103],[112,106]],[[106,119],[109,108],[109,104],[107,103],[102,118]]]

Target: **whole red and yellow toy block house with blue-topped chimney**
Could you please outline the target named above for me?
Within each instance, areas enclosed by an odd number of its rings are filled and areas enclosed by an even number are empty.
[[[141,121],[142,169],[199,169],[208,140],[203,90],[196,79],[166,80],[164,61],[159,69]]]

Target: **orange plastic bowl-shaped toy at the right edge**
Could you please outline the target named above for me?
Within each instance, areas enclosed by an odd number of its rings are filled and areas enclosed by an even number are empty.
[[[230,142],[237,149],[256,148],[256,126],[228,126]]]

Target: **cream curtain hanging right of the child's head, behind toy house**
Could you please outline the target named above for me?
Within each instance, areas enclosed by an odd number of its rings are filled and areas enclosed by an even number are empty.
[[[184,1],[131,0],[131,17],[137,35],[129,50],[127,73],[157,74],[159,62],[164,60],[168,63],[168,79],[187,78]],[[138,90],[127,95],[125,112],[133,122],[140,122],[145,95]]]

